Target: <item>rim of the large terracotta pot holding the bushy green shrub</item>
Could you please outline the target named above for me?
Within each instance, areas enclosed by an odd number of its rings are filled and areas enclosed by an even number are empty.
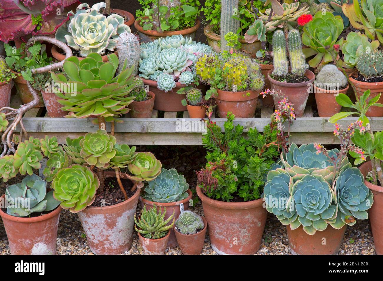
[[[211,199],[207,197],[202,192],[202,188],[197,186],[196,187],[198,197],[200,197],[202,203],[206,203],[210,206],[213,206],[215,208],[219,209],[225,209],[225,210],[246,210],[246,209],[253,209],[257,208],[263,205],[263,198],[259,198],[252,201],[246,201],[246,202],[224,202],[224,201],[218,201]]]

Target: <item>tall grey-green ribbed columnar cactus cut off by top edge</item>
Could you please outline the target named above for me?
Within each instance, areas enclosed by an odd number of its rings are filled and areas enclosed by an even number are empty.
[[[221,51],[229,50],[225,35],[228,32],[237,33],[239,21],[232,18],[238,15],[238,0],[221,0]]]

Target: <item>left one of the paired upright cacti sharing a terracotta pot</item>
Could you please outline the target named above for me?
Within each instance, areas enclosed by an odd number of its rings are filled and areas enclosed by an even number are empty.
[[[285,33],[278,29],[273,34],[273,64],[274,71],[273,75],[283,76],[288,73],[288,61],[286,52],[286,37]]]

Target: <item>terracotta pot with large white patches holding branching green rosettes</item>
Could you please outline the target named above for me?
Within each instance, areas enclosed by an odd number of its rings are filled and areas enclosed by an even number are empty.
[[[111,176],[112,173],[105,173]],[[97,255],[118,255],[132,246],[134,215],[140,189],[128,200],[105,207],[89,206],[77,213],[90,250]]]

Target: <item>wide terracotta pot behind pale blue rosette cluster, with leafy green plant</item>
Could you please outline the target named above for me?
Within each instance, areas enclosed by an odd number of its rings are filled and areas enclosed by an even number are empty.
[[[201,21],[199,19],[196,20],[195,26],[187,29],[182,29],[178,31],[164,31],[162,33],[156,30],[144,30],[140,26],[140,21],[137,19],[134,22],[134,27],[138,31],[138,35],[140,37],[141,43],[152,42],[157,40],[160,37],[172,36],[172,35],[182,35],[183,37],[190,37],[192,40],[195,39],[195,33],[198,28],[201,26]]]

